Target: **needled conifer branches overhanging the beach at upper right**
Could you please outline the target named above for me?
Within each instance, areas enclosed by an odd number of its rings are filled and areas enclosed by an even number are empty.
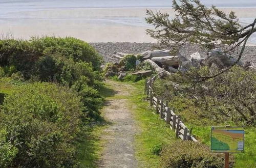
[[[167,13],[147,10],[146,22],[155,29],[146,31],[164,44],[178,47],[190,42],[207,50],[215,48],[215,44],[227,44],[226,51],[233,51],[256,32],[256,19],[242,27],[234,12],[226,14],[215,6],[207,8],[199,0],[173,0],[173,9],[176,14],[172,19]]]

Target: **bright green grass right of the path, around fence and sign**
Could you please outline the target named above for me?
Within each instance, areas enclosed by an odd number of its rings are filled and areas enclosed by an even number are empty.
[[[136,90],[132,92],[130,97],[131,108],[134,110],[134,115],[141,128],[141,134],[136,136],[136,156],[139,160],[140,167],[157,167],[159,156],[154,155],[152,149],[159,144],[168,144],[176,141],[173,131],[164,124],[163,120],[159,119],[158,115],[153,114],[149,107],[149,103],[144,101],[144,82],[139,81],[130,83]],[[136,105],[135,105],[136,104]],[[189,117],[188,117],[189,118]],[[209,121],[210,123],[210,121]],[[215,125],[195,125],[185,123],[188,128],[193,127],[193,134],[197,139],[210,147],[211,126]],[[231,154],[236,160],[235,167],[256,167],[256,128],[245,128],[245,149],[244,153]]]

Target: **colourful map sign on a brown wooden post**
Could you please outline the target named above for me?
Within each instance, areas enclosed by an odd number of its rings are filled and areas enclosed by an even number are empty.
[[[229,153],[244,152],[244,128],[211,127],[211,152],[225,153],[225,168],[228,168]]]

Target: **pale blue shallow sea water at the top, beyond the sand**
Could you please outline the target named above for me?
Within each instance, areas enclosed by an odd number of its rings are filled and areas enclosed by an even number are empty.
[[[256,8],[256,0],[201,0],[206,6],[215,5],[221,8]],[[22,20],[51,20],[63,19],[60,15],[37,15],[37,11],[44,10],[69,10],[82,8],[170,8],[172,0],[0,0],[0,24],[1,23],[20,23]],[[33,12],[27,14],[26,12]],[[255,14],[256,16],[256,14]],[[75,20],[76,17],[65,15],[66,19]],[[115,23],[132,26],[148,26],[144,17],[116,16],[101,18],[79,18],[102,21],[104,23]],[[248,24],[254,18],[240,18],[242,24]],[[0,27],[1,28],[1,27]],[[1,32],[0,32],[1,33]],[[253,37],[256,44],[256,36]]]

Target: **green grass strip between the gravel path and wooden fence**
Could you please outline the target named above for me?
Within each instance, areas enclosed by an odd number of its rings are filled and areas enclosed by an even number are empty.
[[[138,165],[139,167],[158,167],[161,146],[177,141],[174,132],[159,118],[159,115],[154,114],[149,103],[144,101],[144,81],[125,83],[135,88],[131,92],[129,102],[140,129],[140,133],[135,138]]]

